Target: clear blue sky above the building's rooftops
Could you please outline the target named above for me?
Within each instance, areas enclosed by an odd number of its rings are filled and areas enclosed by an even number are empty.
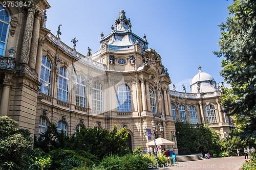
[[[182,91],[185,84],[190,91],[191,79],[202,71],[223,82],[219,72],[221,58],[212,51],[218,51],[220,29],[217,26],[228,16],[227,7],[233,1],[225,0],[48,0],[46,26],[56,35],[62,25],[61,41],[73,46],[71,40],[78,40],[76,49],[86,55],[90,46],[92,53],[99,49],[100,33],[111,33],[114,18],[123,9],[131,18],[132,31],[140,37],[146,34],[148,47],[156,50],[168,68],[172,84]],[[173,86],[170,86],[173,89]]]

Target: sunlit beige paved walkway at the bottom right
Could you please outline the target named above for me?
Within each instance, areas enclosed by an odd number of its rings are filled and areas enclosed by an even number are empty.
[[[248,160],[248,159],[246,159]],[[158,169],[168,170],[238,170],[243,166],[245,159],[243,156],[240,157],[225,157],[225,158],[210,158],[198,161],[180,162],[175,166],[161,166]],[[153,167],[155,168],[155,167]]]

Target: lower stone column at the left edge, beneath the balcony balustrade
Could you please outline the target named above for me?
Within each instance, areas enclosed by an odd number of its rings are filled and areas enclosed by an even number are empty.
[[[3,82],[4,86],[3,86],[3,93],[2,93],[1,104],[0,104],[0,108],[1,108],[0,116],[8,115],[11,84],[12,84],[12,76],[9,74],[6,74]]]

